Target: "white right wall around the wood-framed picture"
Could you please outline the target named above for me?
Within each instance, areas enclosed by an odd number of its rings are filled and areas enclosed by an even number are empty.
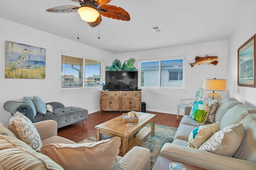
[[[234,97],[240,102],[256,107],[256,88],[237,85],[238,57],[237,50],[248,39],[256,34],[256,2],[248,9],[244,18],[238,22],[238,26],[230,37],[228,55],[228,96]]]

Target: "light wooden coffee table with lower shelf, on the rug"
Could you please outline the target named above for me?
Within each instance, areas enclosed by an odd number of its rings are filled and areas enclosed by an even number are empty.
[[[138,116],[139,122],[133,122],[133,126],[130,127],[126,126],[126,123],[124,123],[123,115],[96,125],[97,141],[102,140],[102,133],[112,137],[120,137],[122,145],[120,147],[119,155],[124,156],[128,150],[132,149],[134,146],[140,145],[140,143],[142,143],[142,141],[144,141],[150,134],[151,136],[154,136],[156,115],[136,111],[135,113]],[[146,127],[148,123],[151,123],[151,127]],[[136,137],[132,137],[134,134],[136,134]]]

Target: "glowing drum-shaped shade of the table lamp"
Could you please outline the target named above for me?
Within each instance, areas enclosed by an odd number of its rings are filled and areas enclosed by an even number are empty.
[[[226,80],[204,79],[203,88],[204,88],[204,90],[225,91],[226,90]]]

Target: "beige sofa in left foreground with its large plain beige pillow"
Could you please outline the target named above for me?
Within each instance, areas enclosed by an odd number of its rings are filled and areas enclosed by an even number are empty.
[[[84,170],[84,169],[104,169],[105,162],[112,161],[113,170],[150,170],[150,150],[135,146],[129,150],[123,157],[116,155],[119,153],[121,139],[113,137],[108,141],[99,141],[97,144],[88,145],[76,144],[74,141],[57,135],[58,123],[54,120],[46,120],[34,123],[40,134],[43,147],[41,152],[36,152],[31,146],[24,143],[0,122],[0,169],[52,169],[52,170]],[[113,139],[113,140],[112,140]],[[115,142],[110,142],[115,141]],[[58,145],[54,144],[58,143]],[[120,145],[116,145],[119,143]],[[60,146],[62,146],[60,148]],[[68,147],[64,147],[68,145]],[[54,146],[54,147],[51,147]],[[57,147],[56,147],[57,146]],[[86,147],[87,146],[87,147]],[[97,146],[97,149],[96,149]],[[105,149],[108,146],[108,149]],[[50,147],[49,152],[47,148]],[[88,152],[84,152],[87,148]],[[53,148],[53,149],[52,149]],[[58,149],[60,148],[60,149]],[[65,150],[64,150],[65,149]],[[114,157],[109,156],[112,149]],[[68,150],[65,154],[58,154],[58,150]],[[71,150],[71,151],[70,151]],[[96,151],[98,150],[98,152]],[[105,154],[102,151],[105,151]],[[112,152],[112,153],[113,153]],[[44,154],[44,153],[48,153]],[[76,156],[70,158],[70,153]],[[77,154],[78,153],[78,154]],[[99,155],[106,159],[102,159]],[[88,158],[88,160],[87,160]],[[93,161],[90,158],[94,158]],[[74,160],[74,161],[72,161]],[[84,161],[90,162],[84,164]],[[70,168],[66,168],[66,165]],[[110,162],[111,165],[111,162]],[[93,168],[88,168],[88,167]],[[104,168],[98,168],[104,166]],[[65,167],[65,168],[63,168]],[[106,168],[105,168],[106,169]],[[108,168],[109,169],[109,168]]]

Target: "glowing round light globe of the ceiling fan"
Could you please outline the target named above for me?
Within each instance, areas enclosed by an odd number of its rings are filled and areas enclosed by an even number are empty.
[[[78,14],[82,20],[86,22],[94,22],[100,16],[100,13],[95,8],[90,6],[81,6],[78,9]]]

